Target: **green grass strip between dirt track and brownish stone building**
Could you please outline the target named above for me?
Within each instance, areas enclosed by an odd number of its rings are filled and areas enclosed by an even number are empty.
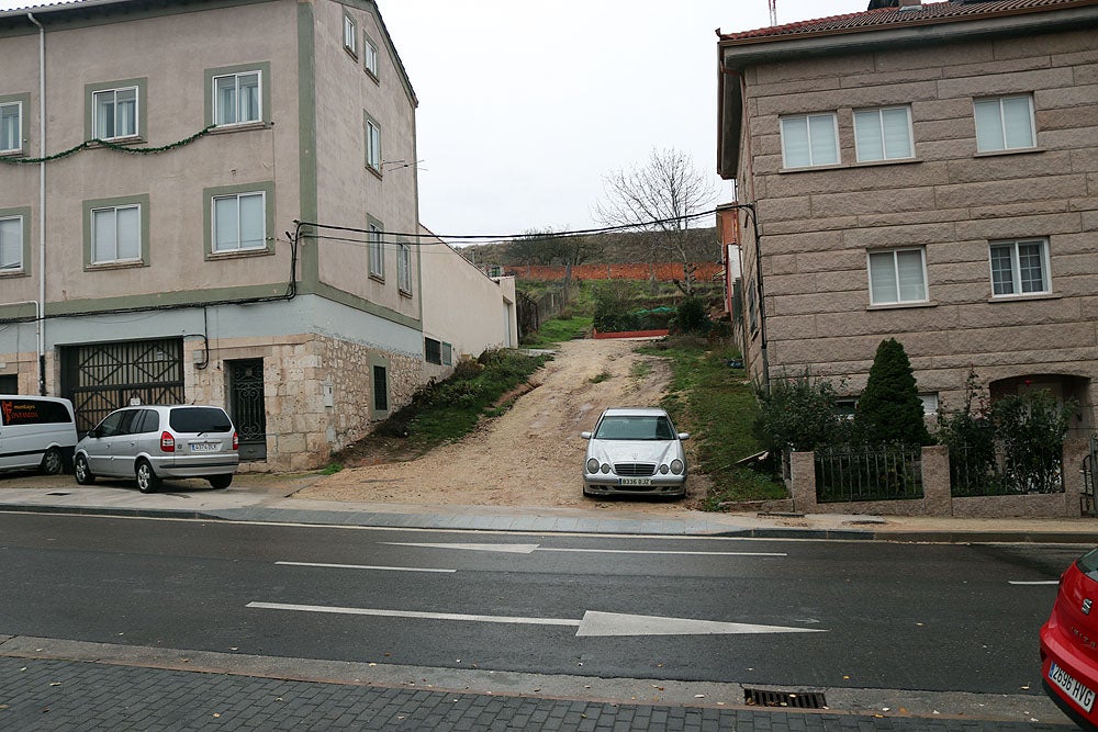
[[[697,468],[713,481],[703,504],[706,510],[719,510],[718,504],[727,500],[788,497],[778,480],[736,466],[762,450],[751,433],[759,414],[754,388],[743,369],[728,365],[739,359],[739,351],[698,338],[670,338],[639,350],[671,359],[673,376],[663,407],[696,440]]]

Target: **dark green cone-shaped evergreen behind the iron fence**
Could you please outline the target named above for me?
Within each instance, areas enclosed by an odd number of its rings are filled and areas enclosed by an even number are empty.
[[[854,426],[870,442],[930,444],[922,416],[922,401],[911,361],[895,338],[881,341],[865,391],[858,399]]]

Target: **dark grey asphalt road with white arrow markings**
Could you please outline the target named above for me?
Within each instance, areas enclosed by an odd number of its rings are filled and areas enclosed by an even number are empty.
[[[0,633],[539,674],[1041,695],[1037,631],[1078,553],[0,515]]]

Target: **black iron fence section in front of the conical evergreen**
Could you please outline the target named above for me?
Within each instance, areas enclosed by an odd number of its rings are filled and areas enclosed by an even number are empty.
[[[816,500],[900,500],[922,497],[922,449],[851,446],[816,451]]]

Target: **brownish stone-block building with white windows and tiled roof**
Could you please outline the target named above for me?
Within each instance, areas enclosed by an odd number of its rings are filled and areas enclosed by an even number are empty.
[[[899,0],[720,35],[746,358],[865,385],[896,337],[928,413],[970,370],[1096,426],[1098,0]]]

